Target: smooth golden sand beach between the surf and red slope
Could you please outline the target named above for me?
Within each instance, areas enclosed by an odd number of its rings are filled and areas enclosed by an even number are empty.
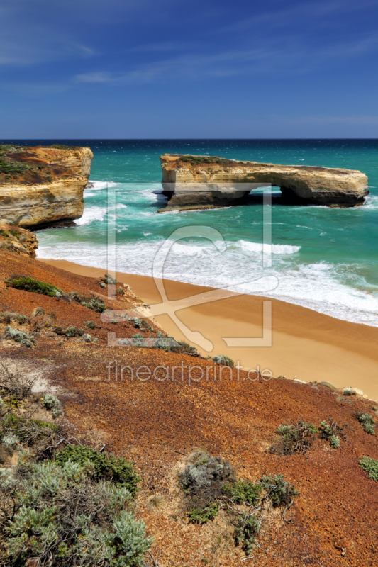
[[[65,260],[41,260],[75,274],[99,277],[104,269],[80,266]],[[147,276],[117,274],[118,281],[128,283],[134,293],[148,303],[161,303],[155,281]],[[223,337],[261,337],[262,302],[260,296],[224,296],[202,305],[187,306],[186,298],[212,288],[165,280],[167,298],[178,301],[176,315],[193,332],[201,332],[213,344],[204,355],[224,354],[243,369],[268,369],[274,377],[298,378],[303,381],[330,381],[335,386],[360,388],[372,400],[378,399],[378,329],[338,320],[316,311],[272,301],[272,346],[228,347]],[[176,307],[177,307],[176,305]],[[157,322],[175,338],[188,341],[167,314],[157,315]]]

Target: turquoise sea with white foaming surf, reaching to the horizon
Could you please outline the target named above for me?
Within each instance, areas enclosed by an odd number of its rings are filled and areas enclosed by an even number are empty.
[[[378,140],[4,140],[12,141],[85,145],[94,152],[84,215],[77,227],[38,231],[39,258],[105,270],[110,218],[116,223],[118,271],[150,276],[157,250],[174,230],[207,225],[220,232],[226,250],[218,252],[204,238],[177,242],[165,263],[167,279],[230,289],[242,284],[251,293],[255,288],[246,282],[274,275],[277,288],[261,295],[378,326]],[[273,189],[273,261],[263,269],[258,195],[240,206],[157,214],[164,206],[158,193],[159,156],[165,152],[360,169],[369,178],[370,195],[357,208],[284,206]],[[107,187],[116,189],[109,210]]]

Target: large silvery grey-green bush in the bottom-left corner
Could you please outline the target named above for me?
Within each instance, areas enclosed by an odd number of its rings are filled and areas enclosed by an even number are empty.
[[[16,485],[16,513],[6,517],[7,564],[143,565],[152,539],[145,536],[143,521],[127,510],[130,493],[94,481],[87,471],[71,461],[64,466],[43,461],[19,479],[2,475],[9,491]]]

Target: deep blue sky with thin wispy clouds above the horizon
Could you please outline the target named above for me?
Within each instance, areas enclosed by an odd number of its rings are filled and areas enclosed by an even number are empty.
[[[377,16],[377,0],[0,0],[0,136],[378,137]]]

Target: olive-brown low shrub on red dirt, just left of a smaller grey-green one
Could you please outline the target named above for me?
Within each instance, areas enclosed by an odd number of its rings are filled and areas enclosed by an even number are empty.
[[[317,429],[303,420],[293,425],[279,425],[276,433],[280,436],[269,451],[277,455],[305,454],[313,444]]]

